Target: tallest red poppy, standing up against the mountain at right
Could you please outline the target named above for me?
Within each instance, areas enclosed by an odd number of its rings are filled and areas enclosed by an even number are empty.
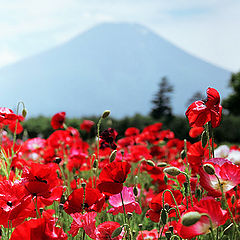
[[[186,111],[186,116],[190,127],[202,127],[210,121],[213,128],[218,127],[222,116],[218,91],[214,88],[208,88],[207,100],[198,100],[192,103]]]

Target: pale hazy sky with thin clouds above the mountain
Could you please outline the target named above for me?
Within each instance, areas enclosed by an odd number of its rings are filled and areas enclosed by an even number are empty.
[[[143,24],[195,56],[240,70],[240,0],[0,0],[0,66],[109,21]]]

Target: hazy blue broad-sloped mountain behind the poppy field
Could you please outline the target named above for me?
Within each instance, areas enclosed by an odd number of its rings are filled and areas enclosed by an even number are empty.
[[[230,72],[196,58],[146,27],[98,25],[51,50],[0,69],[0,106],[24,101],[30,116],[123,117],[150,112],[160,79],[174,86],[173,111],[211,86],[226,97]]]

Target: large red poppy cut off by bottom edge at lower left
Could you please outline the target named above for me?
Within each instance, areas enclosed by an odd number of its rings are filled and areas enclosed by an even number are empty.
[[[10,240],[67,240],[67,234],[55,223],[54,218],[31,219],[17,226]]]

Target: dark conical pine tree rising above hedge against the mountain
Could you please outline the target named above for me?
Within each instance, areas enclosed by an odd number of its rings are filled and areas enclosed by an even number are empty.
[[[162,117],[172,117],[171,107],[171,93],[173,92],[173,86],[169,84],[168,79],[163,77],[159,83],[159,90],[155,94],[152,100],[153,108],[150,115],[154,119],[160,119]]]

